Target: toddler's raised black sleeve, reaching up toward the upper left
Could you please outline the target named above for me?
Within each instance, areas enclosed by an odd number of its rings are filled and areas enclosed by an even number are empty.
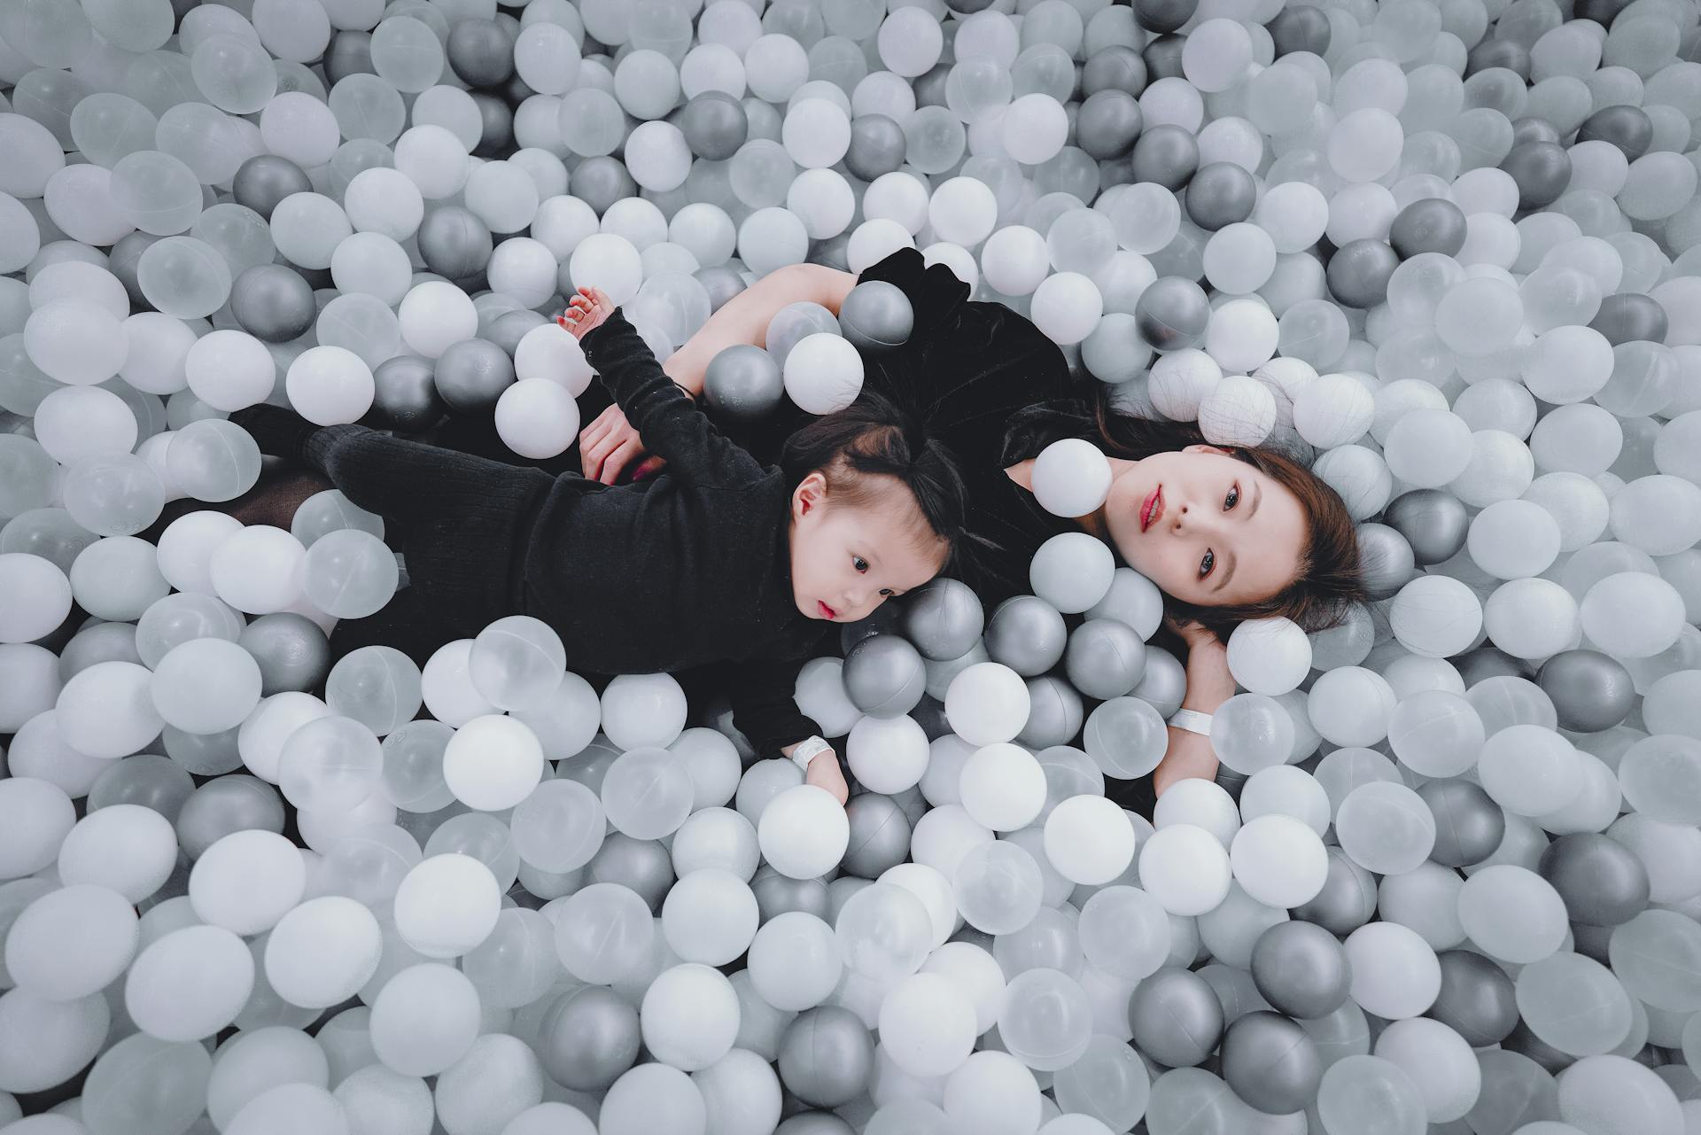
[[[701,485],[745,485],[767,475],[742,446],[723,437],[697,403],[667,376],[619,310],[590,328],[580,347],[645,448],[665,459],[675,476]]]

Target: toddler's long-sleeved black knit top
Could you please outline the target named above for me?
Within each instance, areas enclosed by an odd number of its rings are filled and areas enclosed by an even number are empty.
[[[561,635],[572,669],[742,664],[735,723],[762,752],[816,733],[793,689],[830,626],[793,597],[784,475],[723,437],[619,311],[582,345],[667,468],[617,487],[556,478],[526,543],[521,609]]]

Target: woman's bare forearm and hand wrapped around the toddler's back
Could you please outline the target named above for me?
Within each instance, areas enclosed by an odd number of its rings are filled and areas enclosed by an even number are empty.
[[[839,315],[839,305],[856,288],[856,281],[850,272],[820,264],[776,269],[728,299],[662,364],[662,369],[692,398],[701,398],[709,361],[723,349],[737,344],[765,345],[769,322],[791,303],[813,301]],[[662,468],[662,458],[645,454],[643,437],[617,405],[604,410],[578,436],[578,458],[585,476],[604,485],[619,480],[633,461],[638,461],[633,478],[650,476]]]

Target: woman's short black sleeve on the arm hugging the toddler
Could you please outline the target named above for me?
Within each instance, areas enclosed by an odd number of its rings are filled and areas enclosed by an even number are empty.
[[[915,330],[868,356],[864,383],[917,414],[964,463],[997,465],[1015,410],[1072,396],[1063,351],[1002,303],[970,303],[968,284],[944,264],[900,248],[859,277],[874,279],[903,289]]]

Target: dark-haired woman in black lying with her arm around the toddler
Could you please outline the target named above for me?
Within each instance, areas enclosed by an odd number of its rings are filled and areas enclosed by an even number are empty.
[[[1112,410],[1107,388],[1072,379],[1063,352],[1029,320],[970,301],[964,282],[913,248],[861,277],[815,264],[779,269],[730,299],[663,369],[701,395],[709,361],[733,344],[762,345],[782,306],[808,299],[837,315],[845,294],[871,279],[903,289],[915,330],[902,347],[864,357],[864,386],[922,415],[961,459],[975,529],[993,546],[959,575],[988,609],[1027,590],[1041,543],[1085,528],[1169,597],[1169,621],[1187,647],[1182,708],[1213,713],[1235,693],[1223,640],[1237,623],[1286,616],[1320,630],[1364,599],[1352,516],[1310,470],[1264,449],[1209,446],[1187,424]],[[799,417],[776,415],[745,441],[759,458],[776,453]],[[1087,437],[1111,458],[1109,497],[1080,521],[1048,514],[1033,495],[1034,458],[1061,437]],[[660,468],[617,407],[580,434],[578,459],[585,476],[607,483]],[[1206,737],[1169,733],[1155,793],[1216,774]]]

